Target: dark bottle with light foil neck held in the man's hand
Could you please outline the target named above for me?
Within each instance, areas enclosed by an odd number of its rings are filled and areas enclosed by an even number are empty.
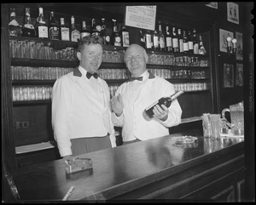
[[[160,98],[160,100],[157,100],[152,105],[149,105],[143,111],[143,117],[145,117],[145,119],[150,119],[150,118],[154,117],[153,109],[154,109],[155,105],[160,105],[160,107],[161,107],[161,105],[166,105],[166,107],[170,107],[170,105],[172,104],[172,101],[177,99],[177,97],[180,96],[183,93],[184,93],[183,90],[179,90],[177,93],[172,94],[171,97],[162,97],[162,98]]]

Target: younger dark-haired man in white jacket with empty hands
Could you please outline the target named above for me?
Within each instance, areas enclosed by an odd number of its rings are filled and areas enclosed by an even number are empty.
[[[52,127],[61,157],[115,147],[108,84],[97,77],[102,39],[84,37],[79,67],[57,79],[52,90]]]

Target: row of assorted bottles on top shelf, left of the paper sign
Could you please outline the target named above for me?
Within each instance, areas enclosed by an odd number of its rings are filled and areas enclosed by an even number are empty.
[[[10,9],[10,21],[9,21],[9,35],[10,36],[23,36],[23,37],[39,37],[49,38],[51,40],[62,40],[77,42],[85,36],[96,35],[103,39],[103,44],[128,47],[129,31],[126,29],[125,24],[119,24],[117,26],[116,20],[113,21],[113,30],[111,35],[107,31],[105,19],[102,18],[101,25],[96,24],[96,19],[91,20],[90,30],[86,26],[86,21],[81,23],[80,31],[75,26],[75,18],[72,15],[70,20],[70,26],[67,26],[67,22],[64,18],[60,18],[60,26],[55,20],[54,12],[51,11],[49,15],[49,23],[44,20],[44,9],[38,8],[38,18],[36,25],[32,25],[30,8],[26,8],[24,25],[20,27],[16,20],[15,8]]]

